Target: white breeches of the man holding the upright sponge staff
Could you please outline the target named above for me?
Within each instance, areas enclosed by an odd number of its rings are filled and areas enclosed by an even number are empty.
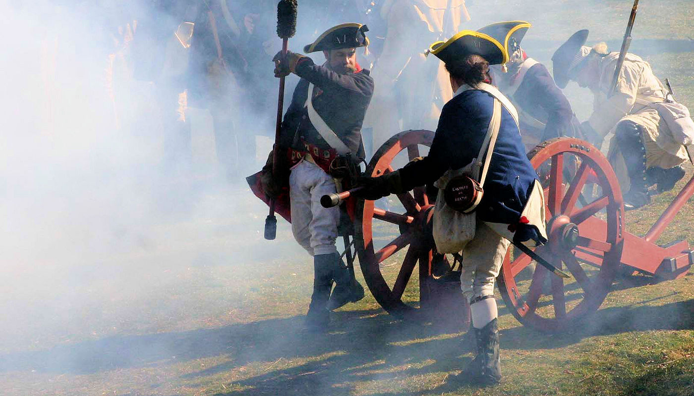
[[[291,232],[312,256],[337,253],[335,239],[340,209],[321,206],[321,196],[335,192],[335,180],[316,164],[301,160],[291,169]]]

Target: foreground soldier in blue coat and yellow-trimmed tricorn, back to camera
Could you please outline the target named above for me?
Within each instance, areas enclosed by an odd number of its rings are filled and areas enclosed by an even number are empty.
[[[489,65],[508,60],[502,45],[488,35],[462,31],[448,42],[432,44],[430,53],[445,62],[455,95],[443,106],[429,155],[387,175],[360,180],[364,189],[357,195],[378,199],[389,193],[402,193],[434,182],[450,169],[463,168],[480,152],[495,98],[503,104],[498,139],[483,185],[484,195],[476,209],[475,237],[463,250],[461,288],[470,302],[477,356],[464,372],[448,377],[453,385],[496,384],[501,371],[493,287],[510,243],[508,236],[498,232],[498,225],[504,229],[509,225],[517,227],[512,236],[517,241],[543,241],[544,224],[523,224],[522,216],[527,203],[543,200],[541,187],[525,155],[516,110],[489,84]]]

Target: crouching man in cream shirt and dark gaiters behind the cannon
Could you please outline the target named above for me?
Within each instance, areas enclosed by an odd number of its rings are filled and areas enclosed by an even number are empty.
[[[672,100],[650,64],[632,53],[626,54],[613,92],[612,78],[620,54],[608,52],[604,43],[584,45],[588,33],[574,33],[552,56],[555,81],[564,88],[574,80],[593,92],[593,114],[582,123],[582,131],[591,135],[591,143],[598,146],[609,132],[614,132],[608,157],[618,176],[624,173],[617,161],[618,153],[623,157],[630,182],[624,207],[637,209],[650,203],[648,187],[657,184],[658,192],[668,191],[684,176],[679,164],[688,158],[684,144],[691,144],[691,138],[678,139],[677,135],[694,136],[694,128],[682,130],[663,117],[663,105],[679,107],[686,113],[688,110]],[[625,185],[622,179],[620,184]]]

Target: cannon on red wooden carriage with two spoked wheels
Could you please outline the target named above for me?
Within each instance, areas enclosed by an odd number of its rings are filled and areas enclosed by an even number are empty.
[[[394,135],[376,151],[364,175],[393,171],[396,162],[404,164],[424,153],[433,138],[429,130]],[[511,245],[498,287],[507,308],[523,325],[541,332],[579,325],[598,310],[620,273],[637,271],[657,279],[686,275],[694,261],[688,242],[659,246],[656,241],[694,194],[694,177],[650,231],[637,236],[624,228],[620,186],[598,148],[559,137],[536,146],[528,158],[543,185],[549,219],[548,243],[534,251],[572,277],[552,275]],[[346,200],[350,207],[347,226],[341,227],[348,266],[353,269],[355,256],[359,258],[369,291],[393,316],[418,322],[454,319],[468,325],[456,270],[464,257],[437,253],[431,228],[434,202],[425,187],[389,198],[374,202],[348,192],[323,197],[324,205]]]

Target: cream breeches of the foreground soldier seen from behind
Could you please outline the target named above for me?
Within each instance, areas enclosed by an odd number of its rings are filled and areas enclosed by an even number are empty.
[[[494,281],[510,243],[484,221],[477,221],[475,238],[463,249],[460,274],[460,289],[468,301],[494,294]]]

